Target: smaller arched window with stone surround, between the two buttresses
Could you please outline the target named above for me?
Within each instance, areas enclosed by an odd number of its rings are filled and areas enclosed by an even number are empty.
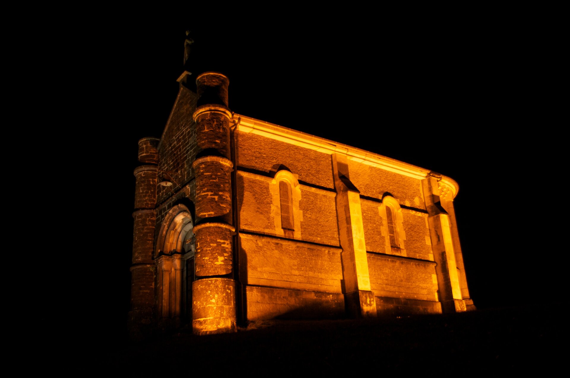
[[[392,196],[385,195],[378,211],[382,218],[381,233],[385,239],[386,253],[406,256],[406,233],[402,225],[404,217],[400,202]]]

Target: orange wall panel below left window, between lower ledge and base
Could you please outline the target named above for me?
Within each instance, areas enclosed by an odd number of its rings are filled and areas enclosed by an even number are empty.
[[[341,292],[340,248],[240,233],[242,280],[251,285]]]

